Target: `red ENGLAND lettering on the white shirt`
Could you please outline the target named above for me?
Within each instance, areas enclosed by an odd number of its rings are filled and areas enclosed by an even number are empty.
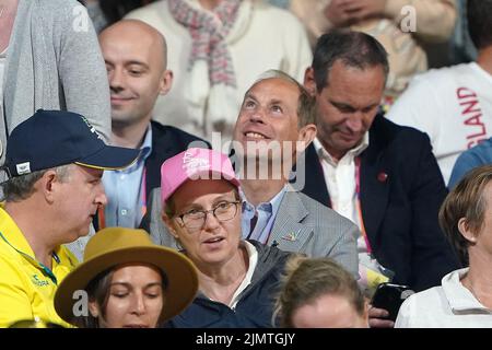
[[[469,88],[458,88],[456,90],[459,105],[461,106],[461,117],[467,132],[467,148],[470,149],[488,138],[485,125],[482,121],[482,108],[477,93]]]

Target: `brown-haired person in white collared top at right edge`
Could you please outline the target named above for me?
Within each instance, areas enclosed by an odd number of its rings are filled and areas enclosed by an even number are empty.
[[[449,192],[440,224],[468,267],[409,296],[396,327],[492,327],[492,165],[475,168]]]

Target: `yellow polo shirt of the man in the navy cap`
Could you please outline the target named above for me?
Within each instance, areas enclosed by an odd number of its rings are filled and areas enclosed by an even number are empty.
[[[0,327],[21,319],[40,318],[70,327],[54,305],[58,283],[77,266],[77,258],[60,246],[52,269],[36,260],[12,218],[0,207]]]

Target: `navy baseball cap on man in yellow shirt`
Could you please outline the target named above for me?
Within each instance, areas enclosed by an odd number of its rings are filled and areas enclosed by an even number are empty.
[[[9,176],[75,163],[99,170],[131,165],[140,150],[106,145],[80,114],[38,109],[12,130],[7,140]]]

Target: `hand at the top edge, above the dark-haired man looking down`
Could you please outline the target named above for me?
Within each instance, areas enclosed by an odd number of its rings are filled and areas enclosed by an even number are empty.
[[[325,8],[325,15],[333,26],[345,26],[367,18],[382,18],[386,1],[331,0]]]

